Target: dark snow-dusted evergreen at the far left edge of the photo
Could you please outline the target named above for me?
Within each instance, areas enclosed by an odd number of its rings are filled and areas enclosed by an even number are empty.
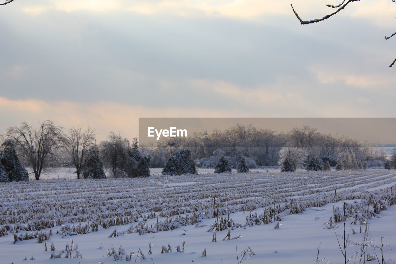
[[[2,143],[0,163],[4,166],[10,182],[29,181],[27,170],[19,162],[12,140],[6,140]]]

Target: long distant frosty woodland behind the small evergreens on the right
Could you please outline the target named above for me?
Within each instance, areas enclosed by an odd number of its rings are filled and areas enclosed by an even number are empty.
[[[345,135],[320,133],[310,126],[295,127],[288,132],[236,124],[225,130],[193,132],[187,138],[163,138],[155,145],[141,146],[150,155],[153,167],[163,167],[177,149],[190,149],[191,157],[202,168],[213,168],[221,156],[236,167],[240,155],[251,167],[278,166],[282,147],[295,147],[306,155],[303,164],[312,157],[336,166],[340,153],[353,155],[368,166],[383,166],[388,152],[377,144],[360,142]]]

